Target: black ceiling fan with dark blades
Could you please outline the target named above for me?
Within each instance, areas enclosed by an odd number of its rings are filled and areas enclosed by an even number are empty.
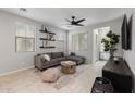
[[[82,22],[86,21],[85,18],[82,18],[82,20],[75,20],[75,16],[72,16],[72,20],[68,20],[65,18],[70,25],[74,25],[74,26],[84,26],[83,24],[81,24]]]

